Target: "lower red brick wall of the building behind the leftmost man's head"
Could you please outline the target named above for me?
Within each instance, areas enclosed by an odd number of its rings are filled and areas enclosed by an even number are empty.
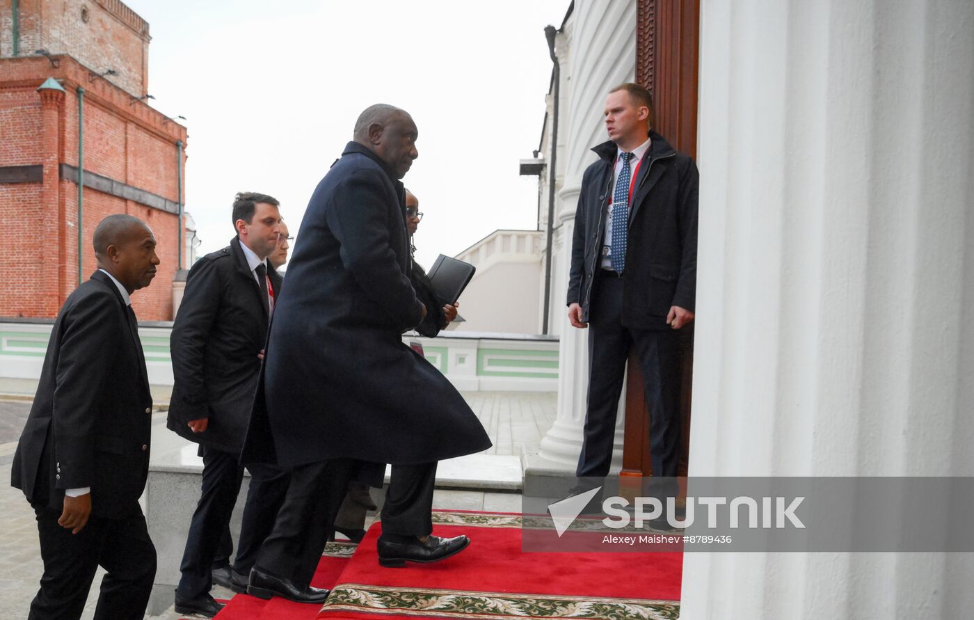
[[[46,58],[0,59],[0,166],[39,165],[47,153],[59,163],[78,163],[78,96],[85,89],[86,171],[176,201],[175,142],[186,143],[186,129],[169,121],[120,89],[92,78],[73,58],[60,57],[52,67]],[[44,116],[37,87],[55,77],[65,89],[50,118],[56,139],[44,143]],[[185,162],[185,160],[184,160]],[[48,179],[45,179],[48,180]],[[78,186],[56,180],[55,198],[45,204],[44,183],[0,183],[0,316],[55,317],[64,298],[78,283]],[[145,205],[102,193],[84,192],[83,269],[96,268],[94,227],[111,213],[130,213],[149,224],[162,260],[152,285],[132,295],[139,319],[172,318],[172,279],[177,265],[177,217]]]

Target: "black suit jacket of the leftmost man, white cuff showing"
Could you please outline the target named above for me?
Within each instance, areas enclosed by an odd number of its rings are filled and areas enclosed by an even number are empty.
[[[139,514],[151,419],[137,326],[115,284],[95,271],[52,329],[11,484],[57,512],[65,489],[91,486],[94,516]]]

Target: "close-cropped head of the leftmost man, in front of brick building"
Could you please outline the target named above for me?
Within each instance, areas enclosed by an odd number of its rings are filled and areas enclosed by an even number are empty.
[[[149,225],[132,215],[109,215],[94,228],[94,254],[98,267],[110,273],[130,293],[156,276],[159,256]]]

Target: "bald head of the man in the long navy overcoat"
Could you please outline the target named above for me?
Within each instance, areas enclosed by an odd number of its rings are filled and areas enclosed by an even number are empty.
[[[420,156],[416,150],[418,136],[419,130],[408,112],[388,103],[376,103],[358,115],[354,139],[378,155],[396,178],[402,178]]]

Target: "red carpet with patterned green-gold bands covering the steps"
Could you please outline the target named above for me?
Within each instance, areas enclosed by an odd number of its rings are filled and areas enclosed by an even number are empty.
[[[312,584],[332,594],[320,610],[238,595],[217,620],[679,617],[679,552],[525,553],[519,515],[437,511],[433,523],[440,536],[466,533],[468,549],[443,562],[383,568],[376,558],[376,524],[351,561],[321,559]]]

